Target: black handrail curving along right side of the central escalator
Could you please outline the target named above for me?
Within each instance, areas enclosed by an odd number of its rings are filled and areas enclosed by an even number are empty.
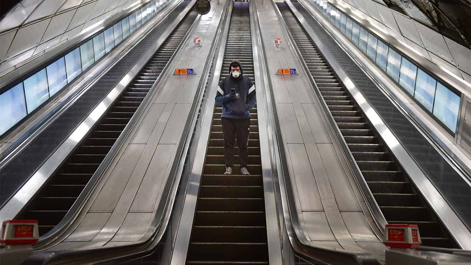
[[[276,4],[274,1],[271,1],[272,4],[276,8]],[[254,11],[255,12],[255,11]],[[279,11],[278,11],[279,13]],[[281,17],[281,14],[278,14]],[[286,231],[288,233],[288,238],[291,244],[291,248],[294,253],[302,258],[303,260],[311,263],[311,264],[356,264],[356,265],[378,265],[378,261],[375,257],[370,254],[362,253],[362,252],[353,252],[353,251],[346,251],[346,250],[334,250],[325,247],[318,247],[309,244],[309,240],[306,238],[304,233],[302,233],[300,220],[298,214],[296,212],[296,206],[294,201],[294,193],[292,190],[292,183],[291,178],[288,170],[288,162],[285,156],[285,149],[283,145],[283,138],[280,128],[280,121],[276,112],[276,101],[275,95],[273,94],[273,82],[271,80],[270,73],[267,68],[267,56],[263,46],[263,40],[261,35],[261,28],[259,23],[258,14],[255,16],[256,24],[258,25],[256,28],[255,38],[257,38],[258,45],[260,47],[260,65],[262,67],[262,78],[266,80],[267,86],[267,101],[268,101],[268,112],[271,120],[271,124],[273,126],[268,129],[268,133],[271,134],[273,140],[273,152],[275,153],[275,157],[272,159],[276,160],[276,164],[278,165],[275,168],[274,174],[278,175],[280,185],[280,193],[282,205],[283,205],[283,216],[284,216],[284,223],[286,226]],[[280,20],[282,21],[282,20]],[[286,25],[284,25],[286,26]],[[308,71],[309,72],[309,71]]]

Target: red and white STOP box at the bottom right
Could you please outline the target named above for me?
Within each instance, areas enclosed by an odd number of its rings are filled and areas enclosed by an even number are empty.
[[[422,244],[417,225],[388,224],[385,229],[384,244],[388,247],[412,249]]]

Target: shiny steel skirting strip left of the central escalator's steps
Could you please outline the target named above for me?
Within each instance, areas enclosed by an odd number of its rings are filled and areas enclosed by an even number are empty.
[[[219,41],[219,51],[217,56],[215,56],[216,64],[212,75],[212,80],[209,82],[211,86],[210,89],[206,91],[205,101],[206,108],[204,114],[201,115],[201,132],[196,147],[196,157],[193,161],[193,167],[191,169],[190,180],[188,182],[187,193],[183,202],[183,209],[180,218],[180,223],[178,225],[177,235],[175,237],[175,245],[171,254],[171,265],[181,265],[185,264],[187,259],[187,252],[189,247],[189,241],[191,236],[191,230],[193,227],[193,220],[195,218],[195,209],[196,201],[198,200],[199,186],[201,182],[201,177],[203,175],[204,160],[206,158],[206,151],[208,146],[208,141],[211,133],[211,124],[212,116],[214,113],[214,104],[216,96],[216,88],[219,85],[220,69],[223,64],[224,52],[226,47],[227,32],[229,31],[230,17],[232,14],[234,2],[230,1],[228,12],[226,17],[229,18],[224,25],[224,29],[221,33],[221,40]]]

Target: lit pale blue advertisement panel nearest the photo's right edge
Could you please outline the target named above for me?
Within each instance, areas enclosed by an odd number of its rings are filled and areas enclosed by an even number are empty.
[[[460,108],[460,97],[440,83],[437,83],[433,115],[455,132]]]

